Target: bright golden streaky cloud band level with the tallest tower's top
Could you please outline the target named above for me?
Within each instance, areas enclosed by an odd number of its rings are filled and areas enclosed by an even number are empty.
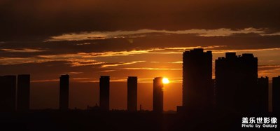
[[[52,61],[65,61],[71,65],[71,67],[81,66],[94,66],[97,67],[116,67],[125,64],[136,64],[139,62],[145,62],[143,60],[128,61],[128,62],[106,62],[100,61],[106,59],[106,57],[129,57],[134,55],[176,55],[182,54],[185,50],[193,48],[204,48],[204,50],[211,50],[212,53],[221,54],[227,52],[260,52],[260,51],[277,51],[280,48],[256,48],[256,49],[221,49],[227,48],[227,46],[195,46],[195,47],[175,47],[175,48],[149,48],[147,50],[130,50],[130,51],[109,51],[104,53],[69,53],[58,55],[35,55],[32,57],[0,57],[0,64],[24,64],[24,63],[42,63]],[[97,60],[98,59],[98,60]],[[169,62],[169,63],[181,63]]]

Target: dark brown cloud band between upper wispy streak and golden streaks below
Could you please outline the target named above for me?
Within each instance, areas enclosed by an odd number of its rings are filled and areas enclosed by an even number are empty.
[[[86,43],[86,44],[85,44]],[[66,55],[89,53],[92,57],[110,56],[107,52],[151,50],[153,48],[181,48],[196,46],[221,46],[211,50],[246,50],[280,48],[280,36],[260,36],[259,34],[235,34],[232,36],[197,36],[195,34],[146,34],[139,38],[117,38],[83,41],[15,41],[1,43],[1,57],[41,57],[46,55]],[[12,51],[11,51],[12,50]],[[31,50],[31,51],[20,51]],[[167,51],[168,50],[163,50]],[[126,54],[126,53],[123,53]],[[115,53],[116,55],[116,53]]]

